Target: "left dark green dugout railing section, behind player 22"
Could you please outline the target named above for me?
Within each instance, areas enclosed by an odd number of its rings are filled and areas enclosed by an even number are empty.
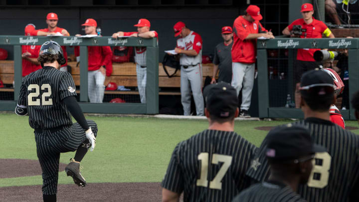
[[[0,45],[13,46],[14,58],[14,100],[0,100],[0,111],[15,109],[18,99],[22,58],[21,45],[42,45],[45,41],[53,40],[63,46],[80,47],[80,102],[85,113],[116,113],[116,114],[158,114],[159,113],[159,47],[156,38],[145,39],[138,37],[123,37],[114,39],[110,36],[95,36],[91,38],[76,36],[15,36],[0,35]],[[87,83],[87,46],[142,46],[147,47],[147,84],[146,103],[89,103]]]

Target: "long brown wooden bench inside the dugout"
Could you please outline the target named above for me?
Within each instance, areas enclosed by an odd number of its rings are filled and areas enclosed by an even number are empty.
[[[68,62],[72,67],[72,77],[75,85],[80,85],[80,68],[76,67],[76,62]],[[203,64],[202,81],[206,76],[212,76],[213,64]],[[168,68],[169,73],[173,73],[173,68]],[[171,71],[171,72],[170,72]],[[14,76],[14,68],[12,60],[0,60],[0,79],[4,84],[12,84]],[[106,77],[105,85],[109,82],[115,82],[118,86],[137,87],[136,64],[134,63],[113,63],[112,75]],[[160,88],[178,88],[177,91],[171,92],[160,91],[160,95],[180,95],[180,71],[176,75],[169,78],[164,71],[162,64],[159,64],[159,87]],[[11,92],[13,88],[0,88],[1,91]],[[79,92],[79,91],[78,91]],[[105,94],[139,94],[138,91],[105,91]]]

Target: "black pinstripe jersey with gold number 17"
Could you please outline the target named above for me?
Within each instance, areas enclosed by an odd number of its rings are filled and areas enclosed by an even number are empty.
[[[204,130],[176,146],[162,187],[184,192],[185,202],[230,202],[249,186],[256,149],[235,132]]]

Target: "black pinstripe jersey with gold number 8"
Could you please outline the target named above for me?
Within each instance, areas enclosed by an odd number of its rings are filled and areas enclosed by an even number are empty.
[[[350,195],[359,192],[359,136],[323,119],[307,118],[294,124],[309,128],[314,142],[328,151],[316,154],[309,182],[298,193],[309,202],[349,202]],[[266,145],[265,138],[247,172],[259,182],[269,177]]]

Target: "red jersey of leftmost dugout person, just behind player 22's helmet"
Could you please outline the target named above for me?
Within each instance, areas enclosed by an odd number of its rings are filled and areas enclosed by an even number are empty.
[[[31,56],[29,56],[30,58],[37,58],[39,56],[40,48],[40,45],[22,45],[21,53],[29,52],[31,53]],[[36,65],[26,59],[22,59],[22,76],[26,76],[38,69],[41,69],[41,65]]]

